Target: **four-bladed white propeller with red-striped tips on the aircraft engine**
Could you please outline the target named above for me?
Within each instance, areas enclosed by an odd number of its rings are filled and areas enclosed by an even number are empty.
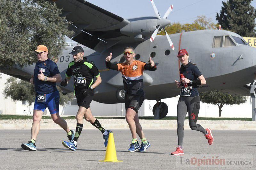
[[[151,1],[152,6],[153,6],[153,9],[154,9],[154,11],[155,11],[155,13],[156,13],[156,17],[157,17],[158,19],[160,19],[162,22],[163,22],[163,20],[165,20],[164,23],[166,23],[166,20],[167,20],[166,18],[167,18],[167,17],[169,16],[169,14],[171,13],[171,11],[172,11],[172,9],[173,9],[173,5],[171,5],[171,6],[168,8],[168,10],[167,10],[167,11],[165,12],[165,14],[164,14],[164,17],[161,18],[159,12],[157,11],[157,8],[156,8],[156,5],[155,5],[154,1],[153,1],[153,0],[150,0],[150,1]],[[159,31],[159,29],[160,29],[161,26],[162,26],[162,25],[159,24],[159,25],[157,26],[157,28],[155,29],[154,33],[151,35],[151,37],[150,37],[150,41],[151,41],[151,42],[153,42],[154,39],[156,38],[156,34],[157,34],[157,32]],[[164,28],[164,31],[165,31],[165,36],[166,36],[166,38],[167,38],[167,40],[168,40],[168,42],[169,42],[169,44],[170,44],[172,50],[174,50],[174,45],[173,45],[173,43],[172,43],[172,40],[171,40],[171,38],[169,37],[168,33],[166,32],[165,28]]]

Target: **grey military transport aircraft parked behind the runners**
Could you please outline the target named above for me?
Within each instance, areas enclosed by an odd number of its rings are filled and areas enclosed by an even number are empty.
[[[94,99],[100,103],[120,103],[124,100],[123,79],[121,73],[108,70],[105,58],[112,52],[112,63],[124,62],[123,48],[134,47],[136,60],[148,61],[149,56],[157,65],[156,71],[144,71],[145,99],[157,100],[175,97],[180,89],[175,85],[180,73],[180,62],[176,57],[178,50],[186,48],[189,60],[206,78],[207,86],[200,92],[223,90],[235,95],[248,96],[250,87],[246,84],[255,79],[256,49],[240,35],[224,30],[199,30],[156,36],[156,33],[170,24],[166,18],[172,11],[171,5],[161,18],[154,1],[151,0],[156,17],[124,19],[85,0],[55,1],[62,15],[66,16],[72,40],[88,47],[85,55],[100,70],[102,83],[96,88]],[[173,43],[172,43],[173,42]],[[175,47],[175,48],[174,48]],[[73,60],[68,53],[72,48],[64,50],[56,61],[62,78],[68,63]],[[1,70],[3,73],[29,80],[35,65],[21,69]],[[61,87],[63,92],[72,92],[73,83]],[[166,104],[155,105],[160,109],[160,118],[168,112]],[[160,107],[158,107],[160,106]]]

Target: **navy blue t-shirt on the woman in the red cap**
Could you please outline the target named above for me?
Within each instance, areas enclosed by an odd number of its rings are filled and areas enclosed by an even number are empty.
[[[181,64],[180,74],[183,74],[185,78],[188,78],[189,80],[192,80],[192,79],[197,80],[197,78],[202,75],[199,69],[195,65],[193,65],[191,62],[188,62],[188,64],[185,66]],[[188,85],[192,86],[190,83],[188,83]],[[192,86],[190,97],[194,97],[198,95],[199,93],[197,91],[197,86]]]

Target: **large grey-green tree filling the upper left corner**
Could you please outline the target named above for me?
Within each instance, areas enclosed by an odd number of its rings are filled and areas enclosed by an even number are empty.
[[[65,35],[72,34],[60,14],[54,3],[43,0],[0,0],[0,68],[36,62],[33,51],[39,44],[48,47],[50,58],[57,57]]]

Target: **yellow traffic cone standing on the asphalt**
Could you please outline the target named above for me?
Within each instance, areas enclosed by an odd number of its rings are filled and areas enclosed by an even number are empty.
[[[100,162],[123,162],[122,160],[117,160],[113,133],[109,133],[109,136],[108,136],[108,146],[106,150],[105,160],[99,160],[99,161]]]

